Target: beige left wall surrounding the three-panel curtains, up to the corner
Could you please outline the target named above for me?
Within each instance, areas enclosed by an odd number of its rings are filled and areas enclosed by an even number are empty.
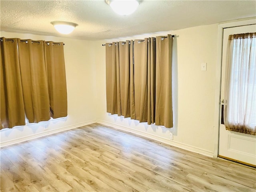
[[[65,43],[64,57],[68,92],[68,116],[58,120],[1,130],[1,146],[96,121],[96,109],[94,107],[96,102],[94,99],[96,96],[96,70],[94,50],[92,49],[94,42],[8,32],[1,32],[2,36]],[[47,129],[45,130],[44,127]]]

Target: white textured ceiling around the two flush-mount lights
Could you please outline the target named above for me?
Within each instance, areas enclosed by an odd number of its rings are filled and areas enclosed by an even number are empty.
[[[119,16],[105,0],[1,0],[1,31],[103,40],[256,16],[256,1],[144,0],[130,16]],[[58,34],[50,22],[77,23],[69,35]]]

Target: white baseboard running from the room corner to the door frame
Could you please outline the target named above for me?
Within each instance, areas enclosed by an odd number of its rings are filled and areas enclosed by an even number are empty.
[[[104,121],[104,120],[97,120],[97,122],[100,123],[100,124],[103,124],[103,125],[112,126],[114,128],[120,129],[120,130],[124,130],[124,131],[127,131],[127,132],[132,132],[132,133],[138,134],[140,136],[144,136],[144,137],[147,137],[147,138],[150,138],[150,139],[154,139],[154,140],[157,140],[159,142],[169,144],[171,146],[182,148],[184,150],[199,153],[199,154],[209,156],[209,157],[214,156],[213,152],[211,152],[211,151],[208,151],[208,150],[205,150],[205,149],[202,149],[202,148],[198,148],[198,147],[195,147],[195,146],[191,146],[191,145],[188,145],[188,144],[184,144],[184,143],[181,143],[181,142],[177,142],[177,141],[174,141],[174,140],[168,140],[166,138],[163,138],[163,137],[160,137],[160,136],[157,136],[157,135],[154,135],[154,134],[150,134],[150,133],[147,133],[147,132],[142,132],[140,130],[135,130],[135,129],[132,129],[130,127],[110,123],[110,122],[107,122],[107,121]]]

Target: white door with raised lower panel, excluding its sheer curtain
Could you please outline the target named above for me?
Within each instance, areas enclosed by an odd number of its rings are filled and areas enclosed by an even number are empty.
[[[251,32],[256,32],[256,24],[224,29],[222,45],[222,83],[220,95],[221,101],[224,99],[224,74],[228,36],[230,34],[241,34]],[[222,115],[222,107],[220,108],[220,119]],[[224,124],[222,124],[220,120],[218,156],[255,167],[256,136],[226,130]]]

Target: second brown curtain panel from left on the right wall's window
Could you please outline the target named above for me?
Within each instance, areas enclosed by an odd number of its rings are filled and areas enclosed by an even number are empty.
[[[130,117],[130,41],[116,43],[118,115]]]

